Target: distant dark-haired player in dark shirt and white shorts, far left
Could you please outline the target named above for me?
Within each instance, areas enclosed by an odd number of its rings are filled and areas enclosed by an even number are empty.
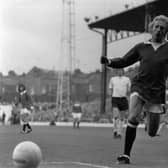
[[[20,120],[22,124],[22,132],[29,133],[32,131],[32,127],[29,124],[32,100],[30,95],[27,93],[26,87],[23,84],[19,84],[17,88],[16,105],[20,111]]]

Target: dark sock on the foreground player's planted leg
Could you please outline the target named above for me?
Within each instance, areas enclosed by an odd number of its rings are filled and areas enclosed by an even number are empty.
[[[124,154],[130,156],[130,152],[133,146],[133,143],[136,138],[136,127],[131,127],[127,125],[126,135],[125,135],[125,144],[124,144]]]

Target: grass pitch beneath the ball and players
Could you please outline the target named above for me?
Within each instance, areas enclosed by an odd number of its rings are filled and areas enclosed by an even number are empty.
[[[116,157],[122,153],[124,138],[113,139],[112,128],[58,126],[33,126],[30,134],[21,134],[19,126],[0,126],[0,167],[12,165],[12,151],[21,141],[37,143],[43,153],[40,167],[75,167],[73,164],[89,163],[113,168],[166,168],[168,165],[167,130],[160,137],[150,138],[138,129],[132,150],[132,164],[116,165]],[[52,165],[54,163],[54,165]],[[59,164],[68,163],[68,164]],[[76,165],[90,167],[89,165]],[[101,167],[100,167],[101,168]]]

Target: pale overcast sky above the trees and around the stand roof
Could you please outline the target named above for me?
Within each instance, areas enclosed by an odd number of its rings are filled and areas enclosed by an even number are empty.
[[[64,16],[68,15],[68,1],[64,0]],[[75,68],[93,72],[101,67],[101,36],[88,29],[85,17],[104,18],[125,10],[125,4],[134,7],[144,2],[75,0]],[[63,0],[0,0],[0,72],[7,74],[14,70],[21,74],[34,66],[49,70],[68,69],[67,44],[61,43],[63,34],[67,38],[67,23],[68,19],[64,17],[62,26]],[[135,41],[144,38],[140,35],[110,44],[108,57],[122,56]]]

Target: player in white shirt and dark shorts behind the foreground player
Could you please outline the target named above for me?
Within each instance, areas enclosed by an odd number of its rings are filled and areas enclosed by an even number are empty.
[[[112,77],[109,82],[113,111],[114,138],[121,138],[122,136],[125,113],[128,110],[130,86],[130,79],[124,76],[124,69],[118,69],[116,76]]]

